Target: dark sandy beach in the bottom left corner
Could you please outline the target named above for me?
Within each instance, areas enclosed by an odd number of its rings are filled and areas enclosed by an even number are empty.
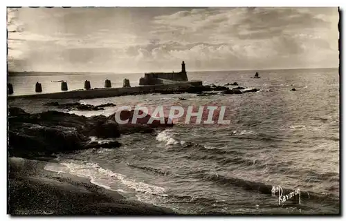
[[[8,157],[8,214],[177,215],[166,207],[128,200],[86,177],[48,171],[48,162],[55,161]]]

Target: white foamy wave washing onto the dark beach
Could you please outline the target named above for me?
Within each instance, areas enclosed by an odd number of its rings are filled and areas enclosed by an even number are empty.
[[[106,189],[111,189],[111,187],[109,186],[109,178],[114,178],[122,182],[122,184],[124,184],[125,186],[141,193],[149,193],[154,195],[165,193],[165,189],[160,186],[154,186],[152,184],[146,184],[144,182],[137,182],[136,180],[131,179],[126,175],[114,173],[113,171],[103,169],[98,164],[95,164],[93,162],[83,162],[82,164],[75,164],[73,162],[62,162],[60,164],[64,167],[61,166],[60,169],[56,169],[50,166],[46,166],[45,169],[48,171],[59,171],[64,173],[71,173],[79,177],[86,177],[89,178],[93,184],[102,186]],[[103,183],[102,181],[104,180],[107,181]]]

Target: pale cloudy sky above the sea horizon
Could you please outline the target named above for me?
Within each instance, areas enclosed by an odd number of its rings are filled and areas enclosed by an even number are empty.
[[[338,20],[338,8],[8,8],[8,69],[336,68]]]

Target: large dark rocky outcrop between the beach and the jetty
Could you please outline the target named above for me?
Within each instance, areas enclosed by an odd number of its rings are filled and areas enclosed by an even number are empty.
[[[84,117],[58,111],[29,114],[21,108],[9,108],[8,151],[10,156],[35,157],[57,152],[70,152],[85,148],[115,148],[120,143],[91,142],[91,136],[117,138],[128,133],[152,133],[154,128],[173,126],[159,120],[149,122],[150,115],[131,124],[134,111],[121,111],[120,119],[128,124],[118,124],[116,113],[109,117],[98,115]]]

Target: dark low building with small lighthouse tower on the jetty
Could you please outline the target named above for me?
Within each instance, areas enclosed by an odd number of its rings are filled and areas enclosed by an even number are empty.
[[[185,62],[181,63],[181,71],[178,73],[145,73],[139,79],[139,85],[172,84],[176,81],[188,81],[186,75]]]

